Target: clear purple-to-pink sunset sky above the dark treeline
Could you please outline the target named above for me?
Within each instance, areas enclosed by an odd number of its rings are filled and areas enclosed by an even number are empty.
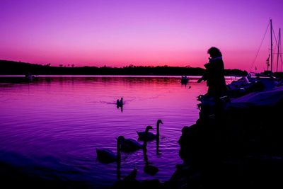
[[[266,69],[269,30],[255,56],[269,19],[276,35],[283,26],[282,0],[0,0],[0,7],[0,59],[52,66],[203,67],[216,46],[227,69]]]

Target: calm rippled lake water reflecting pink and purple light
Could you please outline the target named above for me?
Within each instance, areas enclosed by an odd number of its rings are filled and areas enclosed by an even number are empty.
[[[159,153],[156,141],[147,144],[158,173],[144,173],[142,150],[122,152],[120,173],[123,178],[137,168],[139,180],[167,181],[182,163],[181,129],[197,120],[197,96],[206,91],[205,82],[191,79],[185,86],[179,76],[42,76],[0,84],[0,164],[28,176],[108,188],[117,181],[117,165],[98,162],[96,147],[116,151],[116,137],[137,139],[137,131],[156,128],[161,119]],[[115,105],[121,97],[122,111]]]

